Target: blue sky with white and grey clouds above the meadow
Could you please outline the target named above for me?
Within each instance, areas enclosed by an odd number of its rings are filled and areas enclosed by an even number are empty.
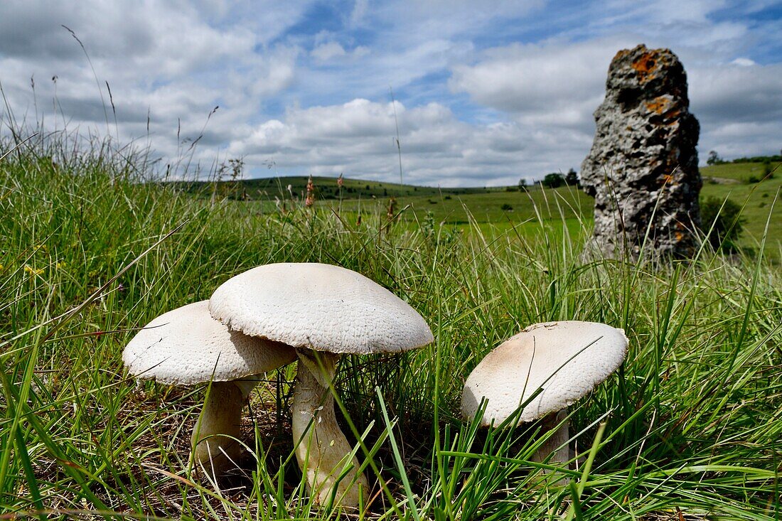
[[[203,133],[204,171],[241,157],[253,177],[393,181],[398,124],[405,181],[508,185],[579,170],[608,63],[639,43],[682,60],[701,161],[779,153],[780,34],[764,0],[3,0],[0,83],[17,122],[109,132],[162,164]]]

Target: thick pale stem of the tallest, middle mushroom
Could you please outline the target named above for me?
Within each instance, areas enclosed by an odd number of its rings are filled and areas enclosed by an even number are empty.
[[[318,504],[356,508],[368,482],[364,474],[357,474],[357,459],[350,458],[352,447],[337,425],[334,397],[328,389],[339,355],[321,352],[316,358],[314,351],[303,349],[296,353],[299,370],[292,403],[296,459]],[[350,469],[343,472],[346,467]]]

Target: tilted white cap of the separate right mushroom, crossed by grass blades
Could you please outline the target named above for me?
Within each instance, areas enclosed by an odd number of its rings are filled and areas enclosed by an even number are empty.
[[[595,322],[531,325],[486,355],[465,382],[461,411],[472,418],[482,397],[482,425],[503,422],[538,388],[519,424],[559,411],[615,371],[627,353],[622,329]],[[528,377],[529,375],[529,377]]]

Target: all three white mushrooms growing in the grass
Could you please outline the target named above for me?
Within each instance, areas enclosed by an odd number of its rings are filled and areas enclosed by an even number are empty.
[[[192,433],[192,458],[213,476],[237,465],[242,409],[264,373],[299,361],[292,435],[307,487],[320,505],[355,508],[368,494],[339,429],[332,395],[342,354],[395,353],[433,341],[404,300],[355,271],[330,264],[267,264],[228,279],[209,300],[152,320],[127,344],[131,375],[159,383],[210,383]],[[497,425],[543,419],[557,432],[536,461],[569,461],[566,408],[624,360],[621,329],[590,322],[533,325],[502,343],[468,377],[462,414]],[[530,399],[529,397],[532,397]]]

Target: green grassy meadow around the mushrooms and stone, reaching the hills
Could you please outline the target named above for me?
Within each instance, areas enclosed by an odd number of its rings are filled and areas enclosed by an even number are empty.
[[[782,274],[764,248],[778,240],[773,196],[761,199],[752,255],[704,246],[653,266],[583,260],[591,208],[573,189],[400,192],[396,218],[371,196],[361,210],[348,198],[307,209],[283,194],[281,209],[228,185],[141,182],[145,155],[74,140],[0,146],[0,519],[782,516]],[[779,178],[705,192],[754,198]],[[188,462],[206,386],[137,382],[122,367],[152,318],[282,261],[359,271],[435,336],[340,362],[343,432],[365,433],[372,490],[360,512],[317,508],[303,486],[295,365],[252,393],[244,473],[217,482]],[[622,328],[630,351],[569,409],[572,468],[545,473],[530,462],[540,426],[480,429],[459,404],[493,347],[555,320]]]

